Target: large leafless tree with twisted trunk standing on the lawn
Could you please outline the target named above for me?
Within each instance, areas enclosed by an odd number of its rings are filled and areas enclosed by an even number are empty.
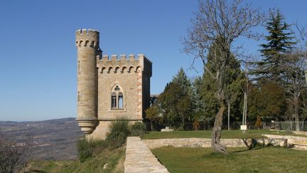
[[[200,0],[199,11],[192,20],[193,26],[188,28],[188,34],[183,38],[183,51],[195,56],[193,62],[196,58],[201,58],[205,73],[210,73],[215,79],[217,86],[215,97],[220,110],[215,116],[211,145],[216,152],[227,153],[226,147],[220,143],[220,137],[222,115],[226,108],[225,70],[229,66],[234,41],[240,36],[253,38],[255,35],[251,28],[258,26],[262,19],[259,9],[252,9],[249,4],[242,4],[241,0],[231,3],[227,0]],[[212,44],[216,44],[215,50],[210,50]],[[215,66],[214,72],[207,67],[208,54],[212,56],[210,63]]]

